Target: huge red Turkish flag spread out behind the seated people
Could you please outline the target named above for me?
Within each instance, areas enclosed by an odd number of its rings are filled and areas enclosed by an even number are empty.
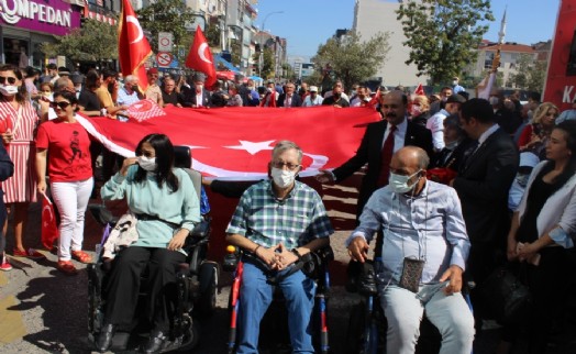
[[[303,151],[300,176],[340,166],[359,146],[366,124],[380,120],[372,108],[220,108],[166,107],[166,115],[142,123],[77,114],[84,128],[108,150],[134,156],[147,134],[164,133],[174,145],[192,148],[192,168],[204,177],[231,180],[267,178],[274,145],[280,140]]]

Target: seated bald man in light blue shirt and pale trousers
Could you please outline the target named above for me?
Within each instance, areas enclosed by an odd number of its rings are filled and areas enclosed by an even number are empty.
[[[368,242],[384,233],[375,272],[387,353],[414,353],[425,310],[442,335],[441,353],[469,354],[474,318],[459,291],[470,243],[455,190],[427,180],[428,164],[423,150],[399,150],[389,185],[370,197],[346,245],[352,259],[364,263]]]

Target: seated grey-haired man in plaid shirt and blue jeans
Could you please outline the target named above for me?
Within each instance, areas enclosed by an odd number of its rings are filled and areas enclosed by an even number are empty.
[[[244,251],[239,354],[258,353],[259,323],[273,300],[270,275],[286,298],[293,353],[314,353],[310,319],[315,284],[292,267],[309,252],[328,246],[333,229],[320,196],[295,180],[301,162],[298,145],[279,142],[268,165],[272,179],[243,193],[226,229],[226,241]]]

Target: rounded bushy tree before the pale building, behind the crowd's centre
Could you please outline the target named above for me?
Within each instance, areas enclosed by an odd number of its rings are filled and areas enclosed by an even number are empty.
[[[345,88],[351,88],[353,84],[374,76],[386,63],[386,56],[390,51],[389,36],[388,33],[378,32],[367,42],[363,42],[359,34],[350,31],[341,38],[332,37],[320,45],[311,62],[320,73],[330,66],[332,76],[341,79]]]

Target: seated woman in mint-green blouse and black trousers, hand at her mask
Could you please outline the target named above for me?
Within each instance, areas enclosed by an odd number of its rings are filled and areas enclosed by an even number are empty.
[[[130,330],[142,272],[149,278],[147,317],[152,324],[144,353],[157,353],[169,336],[176,302],[176,273],[186,262],[185,240],[200,221],[192,181],[174,168],[174,146],[164,134],[149,134],[101,189],[103,200],[126,198],[136,217],[137,240],[113,259],[107,283],[104,325],[96,346],[106,352],[117,329]]]

